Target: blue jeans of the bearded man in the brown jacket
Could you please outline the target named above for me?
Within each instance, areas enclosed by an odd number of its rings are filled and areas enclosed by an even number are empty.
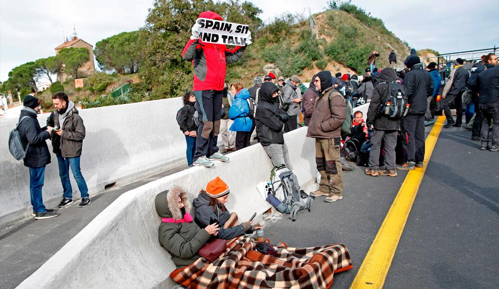
[[[69,168],[71,167],[71,172],[73,172],[73,177],[78,185],[81,197],[88,198],[87,184],[80,171],[80,157],[63,158],[59,154],[56,156],[59,165],[59,177],[61,178],[62,189],[64,190],[62,196],[67,199],[72,198],[73,189],[71,188],[71,182],[69,182]]]

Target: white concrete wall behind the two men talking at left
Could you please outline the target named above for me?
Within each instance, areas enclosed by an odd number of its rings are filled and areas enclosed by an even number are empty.
[[[185,137],[175,119],[181,98],[170,98],[89,108],[81,110],[86,127],[81,156],[81,171],[90,196],[104,186],[130,182],[145,174],[165,169],[166,164],[186,162]],[[48,113],[38,115],[46,125]],[[29,172],[22,161],[9,153],[7,140],[17,118],[0,119],[0,226],[31,215]],[[47,141],[50,152],[51,142]],[[71,179],[73,198],[80,193]],[[45,172],[44,202],[62,198],[57,158]]]

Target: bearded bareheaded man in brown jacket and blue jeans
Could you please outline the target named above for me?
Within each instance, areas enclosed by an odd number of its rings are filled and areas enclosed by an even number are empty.
[[[73,203],[69,168],[73,172],[74,180],[80,190],[81,202],[78,207],[86,207],[90,203],[88,188],[80,169],[80,156],[85,138],[85,126],[74,102],[70,101],[63,92],[52,96],[54,111],[47,118],[47,126],[54,127],[52,133],[52,148],[57,156],[59,177],[62,183],[62,200],[59,207],[66,207]]]

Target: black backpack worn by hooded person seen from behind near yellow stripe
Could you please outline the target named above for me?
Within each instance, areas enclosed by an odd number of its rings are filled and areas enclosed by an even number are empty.
[[[409,103],[404,86],[391,82],[388,84],[388,97],[382,104],[381,112],[391,119],[401,119],[407,115]]]

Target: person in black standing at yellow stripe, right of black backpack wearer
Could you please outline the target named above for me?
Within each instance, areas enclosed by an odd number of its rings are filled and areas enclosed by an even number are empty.
[[[425,158],[425,113],[427,97],[433,93],[433,80],[428,71],[423,69],[419,57],[409,59],[410,69],[404,78],[409,111],[404,118],[404,129],[407,141],[403,142],[407,153],[404,164],[397,170],[414,170],[423,167]]]

